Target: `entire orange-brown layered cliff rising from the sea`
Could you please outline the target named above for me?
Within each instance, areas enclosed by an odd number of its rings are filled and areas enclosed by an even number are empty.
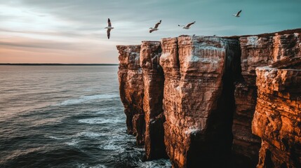
[[[173,167],[300,167],[301,29],[118,45],[128,133]]]

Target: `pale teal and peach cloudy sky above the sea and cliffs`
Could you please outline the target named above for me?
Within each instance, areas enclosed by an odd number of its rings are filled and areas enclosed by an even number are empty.
[[[300,7],[300,0],[0,0],[0,63],[118,63],[116,45],[301,28]]]

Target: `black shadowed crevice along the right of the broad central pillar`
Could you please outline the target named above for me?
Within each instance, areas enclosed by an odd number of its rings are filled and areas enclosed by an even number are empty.
[[[234,167],[232,163],[234,83],[243,80],[239,42],[229,43],[226,53],[222,92],[217,109],[210,113],[206,133],[190,137],[187,167]]]

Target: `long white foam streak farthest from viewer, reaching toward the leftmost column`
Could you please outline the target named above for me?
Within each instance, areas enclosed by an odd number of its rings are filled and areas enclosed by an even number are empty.
[[[119,98],[119,94],[95,94],[91,96],[83,96],[77,99],[68,99],[58,104],[59,106],[67,106],[73,104],[81,104],[83,102],[88,102],[95,99],[117,99]]]

